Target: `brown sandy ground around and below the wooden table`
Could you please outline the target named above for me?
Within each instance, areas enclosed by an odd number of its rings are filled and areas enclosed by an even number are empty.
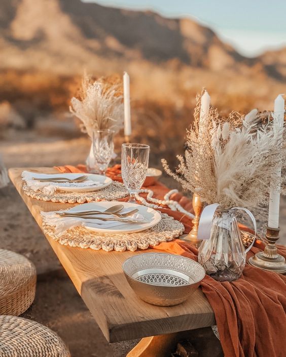
[[[46,138],[38,142],[34,133],[22,133],[0,141],[0,153],[7,167],[78,164],[85,160],[89,141]],[[164,180],[164,179],[163,179]],[[172,180],[166,181],[174,188]],[[33,220],[16,189],[10,183],[0,190],[0,247],[29,258],[37,267],[35,301],[23,317],[56,331],[73,357],[123,357],[137,341],[109,344],[78,295],[66,272]],[[281,244],[286,244],[286,200],[281,200]]]

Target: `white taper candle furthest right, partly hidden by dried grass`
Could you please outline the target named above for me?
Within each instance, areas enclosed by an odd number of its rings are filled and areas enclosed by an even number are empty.
[[[284,99],[281,94],[274,101],[274,133],[277,140],[282,139],[282,128],[284,123]],[[279,227],[279,203],[280,203],[280,184],[276,184],[277,179],[281,177],[281,165],[277,166],[272,174],[269,193],[269,212],[268,227]]]

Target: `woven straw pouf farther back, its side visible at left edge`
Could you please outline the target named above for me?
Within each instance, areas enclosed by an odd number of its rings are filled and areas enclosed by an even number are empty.
[[[36,280],[33,263],[0,249],[0,314],[18,316],[26,311],[35,297]]]

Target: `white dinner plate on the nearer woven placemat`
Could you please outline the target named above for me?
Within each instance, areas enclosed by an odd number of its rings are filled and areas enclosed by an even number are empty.
[[[90,210],[98,210],[98,211],[104,211],[108,209],[109,207],[115,206],[122,204],[124,205],[124,210],[126,209],[134,209],[137,208],[139,214],[143,215],[147,222],[142,222],[142,223],[124,223],[122,225],[116,226],[114,228],[94,228],[88,226],[88,223],[86,223],[85,227],[87,229],[93,230],[95,232],[102,232],[102,233],[134,233],[134,232],[140,232],[141,230],[146,230],[148,228],[151,228],[155,226],[155,224],[159,223],[161,221],[161,215],[158,211],[153,210],[153,208],[149,208],[146,206],[142,205],[137,205],[134,203],[128,203],[128,202],[118,202],[118,201],[111,201],[111,202],[90,202],[90,203],[85,203],[83,205],[78,205],[76,207],[73,207],[69,210],[69,212],[79,212],[79,211],[90,211]]]

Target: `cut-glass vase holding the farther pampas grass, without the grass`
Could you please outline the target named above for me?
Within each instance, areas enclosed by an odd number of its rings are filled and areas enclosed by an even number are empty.
[[[114,152],[114,131],[110,129],[93,132],[93,154],[95,170],[104,175]]]

